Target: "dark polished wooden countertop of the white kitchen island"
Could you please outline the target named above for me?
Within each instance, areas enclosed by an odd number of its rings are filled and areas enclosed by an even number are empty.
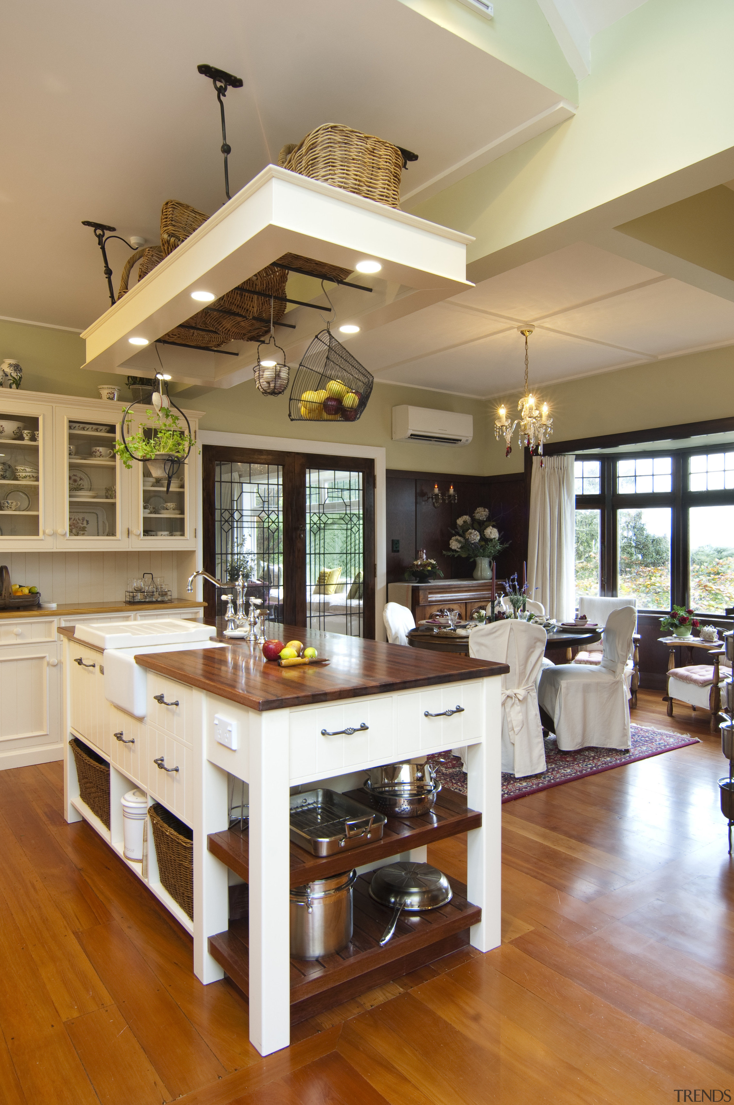
[[[504,675],[510,671],[506,664],[491,661],[430,653],[293,625],[271,623],[270,632],[277,632],[284,642],[298,640],[313,645],[319,656],[329,657],[331,664],[280,667],[266,662],[260,649],[251,652],[248,644],[239,641],[228,641],[223,649],[158,652],[135,659],[141,667],[159,675],[258,711],[459,683]],[[218,636],[218,640],[224,638]]]

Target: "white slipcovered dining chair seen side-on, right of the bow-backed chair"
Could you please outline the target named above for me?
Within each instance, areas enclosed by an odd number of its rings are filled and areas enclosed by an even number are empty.
[[[538,702],[553,719],[562,751],[630,747],[625,667],[636,623],[635,607],[612,610],[598,665],[559,664],[543,672]]]

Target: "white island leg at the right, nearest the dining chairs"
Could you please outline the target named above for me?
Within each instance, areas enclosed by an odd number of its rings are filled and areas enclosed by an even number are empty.
[[[482,828],[468,833],[466,895],[482,909],[471,943],[489,951],[502,938],[502,688],[499,678],[481,682],[484,739],[469,747],[466,800],[471,809],[482,811]]]

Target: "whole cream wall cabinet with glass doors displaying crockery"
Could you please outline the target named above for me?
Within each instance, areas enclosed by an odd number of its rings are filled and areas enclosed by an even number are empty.
[[[147,464],[126,469],[114,453],[124,410],[0,388],[0,552],[196,548],[195,453],[168,492]]]

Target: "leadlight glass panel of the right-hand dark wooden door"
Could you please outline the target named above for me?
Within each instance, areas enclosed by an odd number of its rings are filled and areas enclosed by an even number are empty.
[[[306,619],[313,629],[363,635],[363,512],[361,472],[306,471]]]

